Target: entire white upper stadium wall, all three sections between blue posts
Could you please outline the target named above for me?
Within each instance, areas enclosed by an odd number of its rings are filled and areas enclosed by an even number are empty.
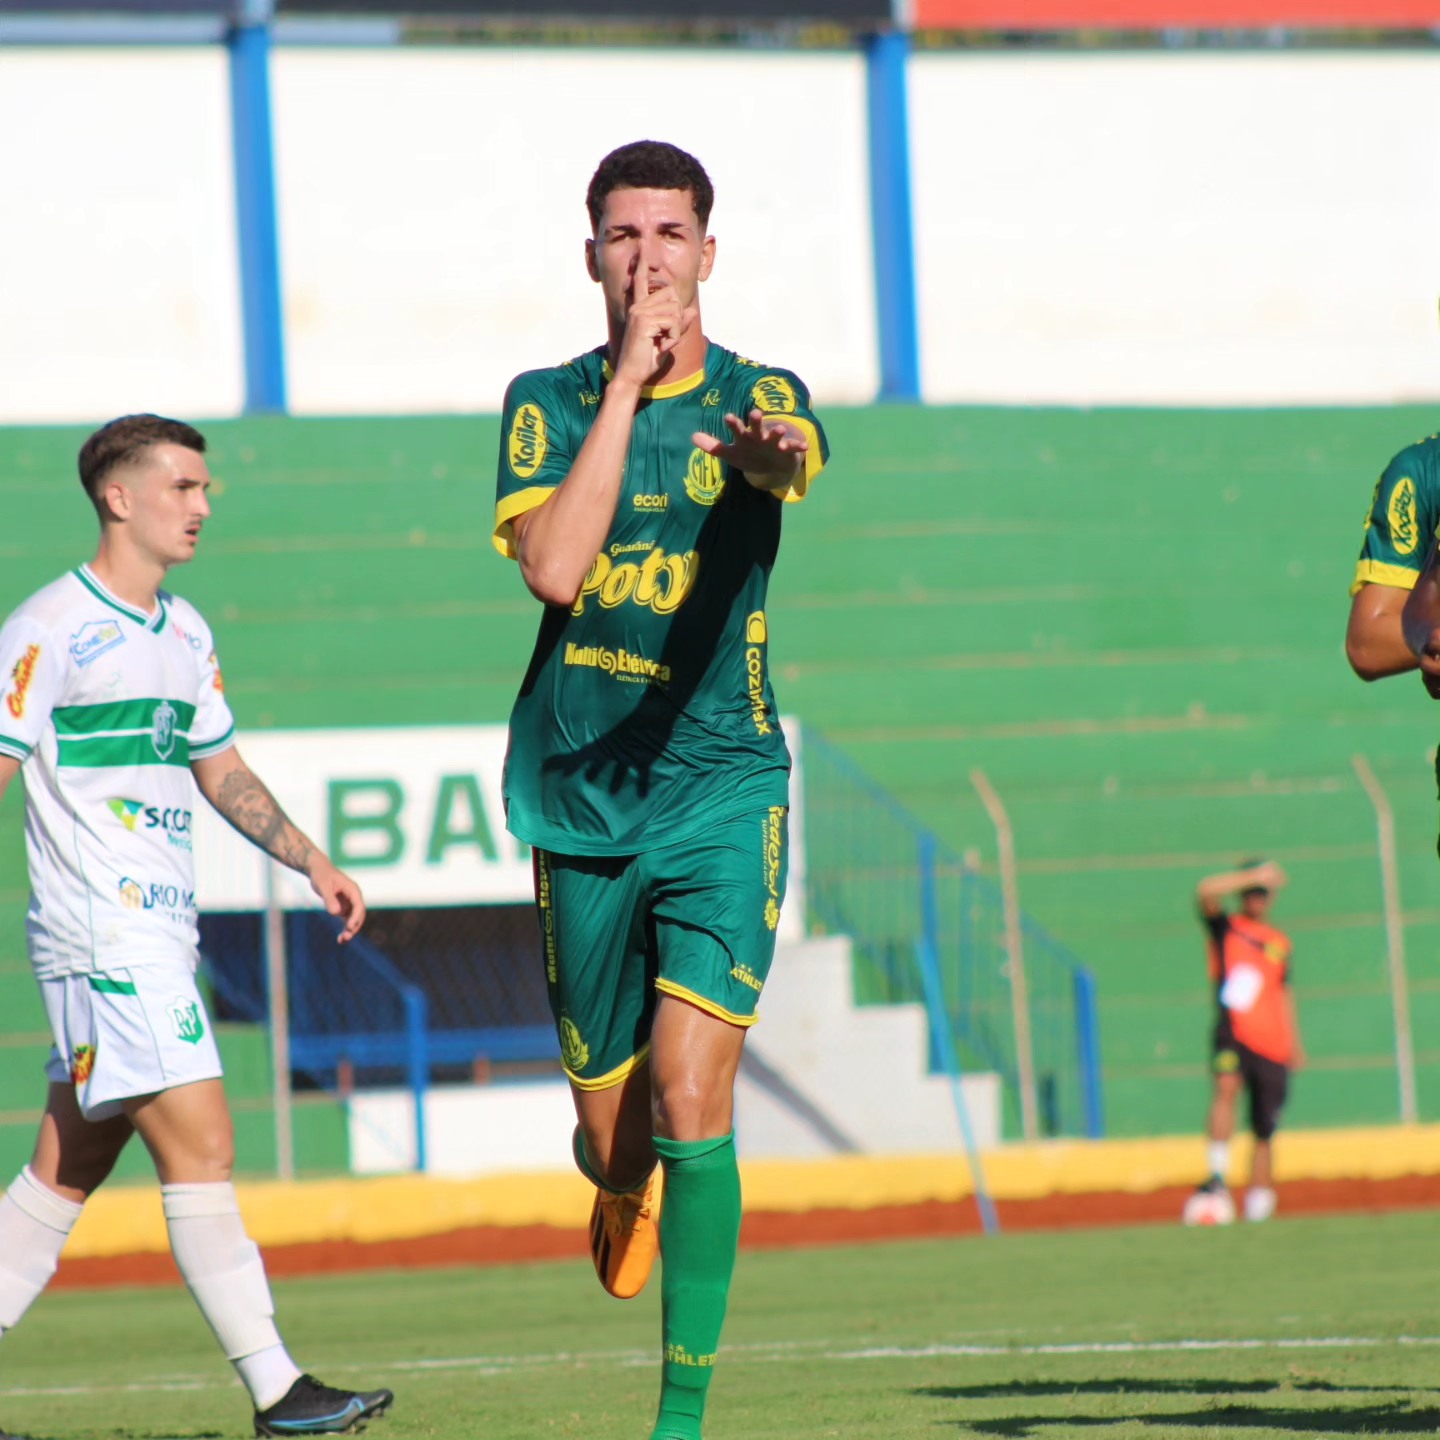
[[[272,79],[297,412],[495,410],[596,343],[585,186],[657,127],[716,179],[710,333],[874,396],[858,55],[281,48]],[[675,88],[706,102],[658,122]],[[0,50],[0,423],[236,413],[223,52]],[[910,137],[927,400],[1440,393],[1440,56],[917,55]]]

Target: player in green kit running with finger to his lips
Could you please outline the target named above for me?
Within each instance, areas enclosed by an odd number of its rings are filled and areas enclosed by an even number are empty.
[[[674,145],[600,161],[585,262],[608,340],[511,383],[495,503],[546,606],[505,804],[534,848],[592,1254],[626,1297],[664,1251],[651,1440],[700,1440],[734,1270],[734,1074],[788,863],[765,592],[782,504],[827,458],[795,374],[706,338],[711,200]]]

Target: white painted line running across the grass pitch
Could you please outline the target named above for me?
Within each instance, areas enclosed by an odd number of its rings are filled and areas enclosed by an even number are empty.
[[[1305,1351],[1305,1349],[1384,1349],[1385,1346],[1440,1346],[1440,1335],[1312,1335],[1276,1339],[1238,1341],[1077,1341],[1053,1345],[873,1345],[863,1349],[837,1348],[834,1341],[798,1341],[793,1344],[726,1345],[721,1359],[726,1365],[776,1364],[804,1354],[808,1361],[852,1359],[1024,1359],[1047,1355],[1165,1355],[1184,1352],[1223,1351]],[[654,1351],[556,1351],[549,1355],[455,1355],[432,1359],[392,1361],[369,1365],[327,1365],[325,1374],[367,1374],[372,1377],[415,1374],[426,1371],[467,1369],[477,1375],[516,1375],[526,1371],[557,1367],[622,1365],[626,1368],[655,1367]],[[238,1385],[235,1380],[213,1375],[157,1375],[154,1380],[130,1381],[124,1385],[13,1385],[0,1388],[0,1400],[73,1395],[138,1395],[174,1391],[213,1390]],[[1404,1387],[1398,1387],[1404,1390]]]

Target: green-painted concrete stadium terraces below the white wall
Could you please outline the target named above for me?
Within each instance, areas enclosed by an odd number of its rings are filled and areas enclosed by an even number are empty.
[[[992,868],[969,780],[988,773],[1025,909],[1099,978],[1109,1132],[1198,1128],[1210,998],[1191,894],[1253,854],[1293,881],[1276,919],[1312,1066],[1290,1123],[1395,1117],[1355,753],[1397,809],[1421,1115],[1440,1117],[1440,711],[1408,677],[1359,684],[1341,644],[1371,487],[1428,412],[878,406],[827,422],[835,458],[786,514],[772,586],[782,707]],[[207,433],[223,487],[176,588],[216,629],[242,727],[505,719],[539,613],[490,547],[494,419]],[[91,550],[82,438],[0,431],[0,608]],[[0,986],[23,966],[16,831],[10,798]]]

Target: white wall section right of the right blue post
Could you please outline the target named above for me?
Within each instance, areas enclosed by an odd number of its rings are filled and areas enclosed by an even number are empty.
[[[917,58],[923,393],[1440,393],[1440,56]]]

